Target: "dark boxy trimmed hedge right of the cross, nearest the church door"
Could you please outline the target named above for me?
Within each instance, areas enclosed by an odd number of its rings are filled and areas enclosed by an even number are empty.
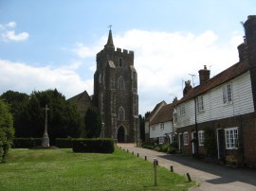
[[[113,139],[73,139],[73,152],[113,153]]]

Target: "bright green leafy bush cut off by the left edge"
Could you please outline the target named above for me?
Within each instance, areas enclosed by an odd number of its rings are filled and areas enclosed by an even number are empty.
[[[6,161],[13,135],[12,115],[8,105],[0,99],[0,163]]]

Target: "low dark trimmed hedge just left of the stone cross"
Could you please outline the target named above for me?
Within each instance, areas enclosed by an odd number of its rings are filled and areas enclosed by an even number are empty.
[[[13,138],[12,148],[33,148],[41,144],[42,138]]]

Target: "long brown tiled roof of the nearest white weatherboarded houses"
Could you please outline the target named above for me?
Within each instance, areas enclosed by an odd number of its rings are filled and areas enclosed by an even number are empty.
[[[185,102],[196,96],[200,96],[206,93],[207,91],[209,91],[210,89],[215,88],[229,81],[232,78],[236,78],[242,75],[243,73],[247,72],[248,69],[249,69],[249,65],[247,60],[237,62],[234,65],[230,66],[228,69],[214,76],[213,78],[210,78],[204,84],[194,87],[190,92],[188,92],[186,96],[183,96],[179,101],[177,101],[175,105]]]

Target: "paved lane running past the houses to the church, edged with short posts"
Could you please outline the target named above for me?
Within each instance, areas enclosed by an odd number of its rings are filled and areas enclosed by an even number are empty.
[[[191,191],[256,191],[256,170],[247,168],[232,168],[223,165],[210,164],[190,157],[177,156],[156,152],[151,149],[137,148],[134,144],[118,144],[119,148],[128,149],[129,152],[139,153],[139,157],[147,156],[148,161],[158,160],[158,165],[174,172],[185,175],[190,173],[192,180],[199,183]]]

